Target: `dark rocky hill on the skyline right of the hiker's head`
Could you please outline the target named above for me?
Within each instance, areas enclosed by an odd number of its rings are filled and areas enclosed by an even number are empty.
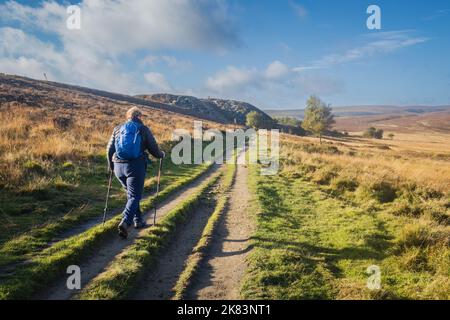
[[[138,95],[136,98],[174,106],[179,109],[195,112],[196,114],[202,114],[208,119],[220,123],[236,122],[237,124],[245,125],[246,116],[252,111],[260,113],[265,121],[272,122],[272,118],[267,113],[242,101],[215,98],[200,99],[173,94]]]

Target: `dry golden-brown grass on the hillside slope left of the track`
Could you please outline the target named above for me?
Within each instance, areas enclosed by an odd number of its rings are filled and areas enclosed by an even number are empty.
[[[0,100],[0,186],[11,188],[32,182],[36,177],[30,172],[46,170],[51,175],[57,163],[104,155],[113,128],[124,122],[132,106],[70,90],[0,85],[0,91],[25,97],[23,102]],[[151,108],[142,111],[145,124],[160,143],[169,141],[175,128],[191,130],[193,126],[194,119],[187,116]]]

